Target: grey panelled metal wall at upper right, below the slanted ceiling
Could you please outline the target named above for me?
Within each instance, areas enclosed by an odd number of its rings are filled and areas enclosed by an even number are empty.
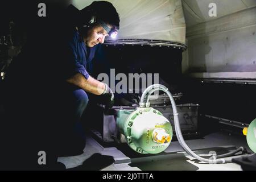
[[[252,7],[187,28],[183,72],[255,72],[255,17]]]

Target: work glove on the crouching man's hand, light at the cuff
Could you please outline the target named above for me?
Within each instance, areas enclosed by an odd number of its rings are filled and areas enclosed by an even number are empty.
[[[100,102],[105,105],[105,110],[109,110],[114,105],[114,93],[109,88],[107,84],[105,84],[105,90],[101,94]]]

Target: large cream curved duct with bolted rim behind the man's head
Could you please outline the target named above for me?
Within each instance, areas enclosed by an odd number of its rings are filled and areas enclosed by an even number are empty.
[[[83,9],[93,0],[73,0]],[[121,22],[116,40],[106,44],[147,44],[185,47],[185,19],[181,0],[109,0],[117,9]]]

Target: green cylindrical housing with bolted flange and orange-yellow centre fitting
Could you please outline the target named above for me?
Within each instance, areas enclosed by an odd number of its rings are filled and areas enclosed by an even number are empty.
[[[119,110],[117,127],[129,146],[141,154],[158,154],[171,143],[171,123],[152,107]]]

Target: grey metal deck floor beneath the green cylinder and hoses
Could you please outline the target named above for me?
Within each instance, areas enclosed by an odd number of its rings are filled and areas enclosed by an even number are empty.
[[[251,152],[246,143],[246,137],[228,135],[218,132],[206,135],[202,139],[186,140],[191,149],[196,154],[207,155],[209,151],[216,151],[217,154],[224,154],[237,147],[243,146]],[[122,149],[121,149],[122,150]],[[129,155],[129,151],[124,148],[121,151],[118,147],[103,147],[92,137],[88,137],[84,154],[70,157],[60,157],[59,162],[64,163],[66,168],[80,166],[90,159],[93,154],[101,154],[100,159],[91,160],[93,165],[98,164],[102,171],[241,171],[241,167],[235,163],[228,164],[205,164],[192,158],[183,151],[180,144],[175,141],[161,154],[157,155]],[[129,150],[129,149],[128,149]],[[104,156],[113,156],[114,163],[104,162]],[[105,163],[105,164],[104,164]],[[84,163],[85,164],[85,163]],[[87,165],[90,165],[88,163]],[[84,166],[84,165],[83,165]],[[82,167],[81,167],[82,169]],[[86,166],[85,170],[90,169]],[[92,168],[93,169],[93,168]]]

